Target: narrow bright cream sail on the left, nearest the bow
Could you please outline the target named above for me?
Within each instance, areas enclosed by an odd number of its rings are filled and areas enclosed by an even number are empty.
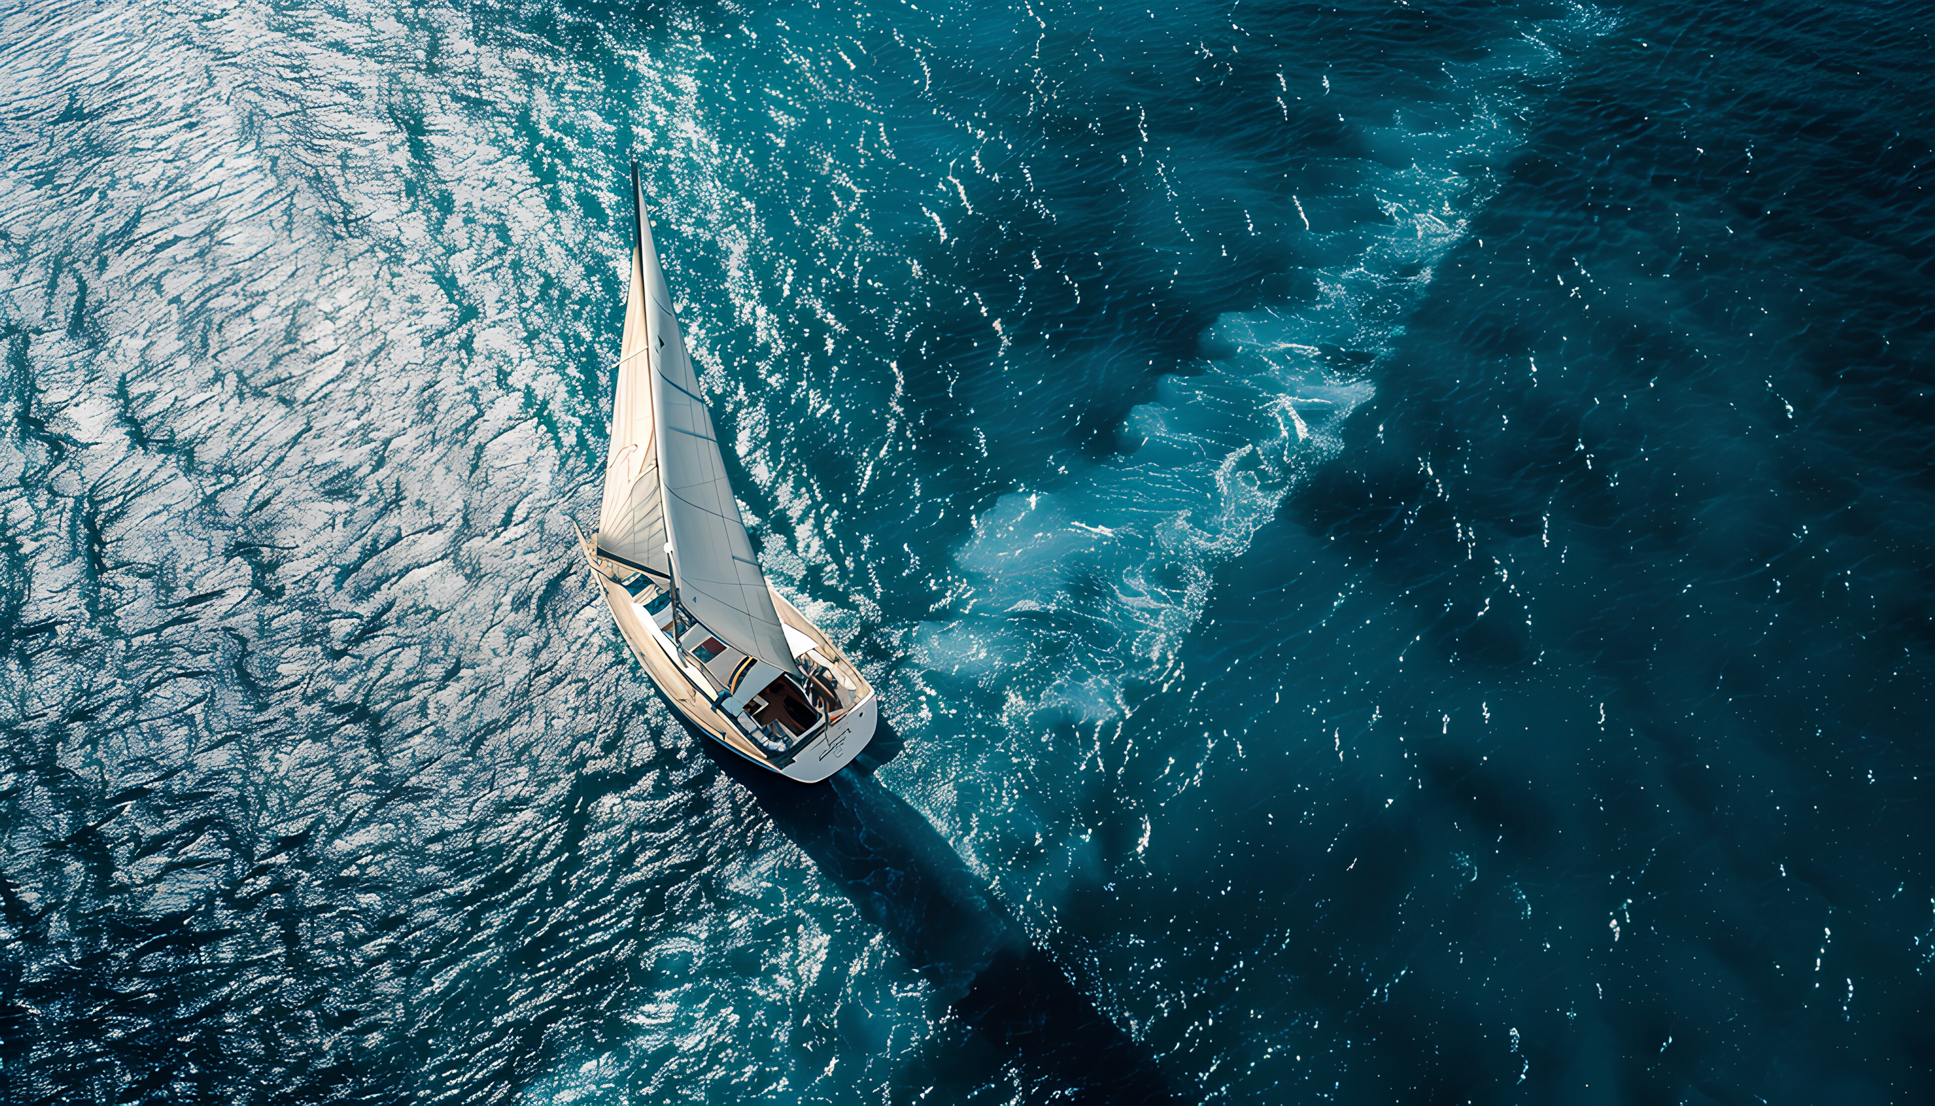
[[[633,172],[631,291],[625,296],[625,337],[619,345],[617,387],[611,397],[611,445],[606,453],[604,509],[598,515],[598,552],[640,568],[666,583],[666,509],[658,478],[658,420],[652,401],[652,364],[646,356],[644,227]],[[656,271],[656,258],[654,258]],[[660,275],[664,287],[664,275]]]

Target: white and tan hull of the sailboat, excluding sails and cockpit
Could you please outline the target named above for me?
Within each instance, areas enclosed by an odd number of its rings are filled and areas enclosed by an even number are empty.
[[[658,684],[666,701],[716,742],[762,769],[799,783],[820,783],[851,763],[867,748],[867,742],[873,740],[875,724],[880,719],[880,699],[875,695],[873,686],[867,684],[867,678],[859,674],[859,668],[848,661],[846,653],[830,637],[820,633],[805,614],[799,614],[786,597],[772,591],[772,606],[778,610],[780,620],[809,637],[815,653],[830,661],[830,668],[840,676],[840,684],[851,686],[853,705],[828,721],[805,748],[795,748],[789,753],[770,753],[753,744],[741,728],[743,722],[726,715],[716,705],[716,691],[710,691],[710,680],[704,670],[691,664],[691,661],[675,661],[677,651],[671,639],[658,630],[656,620],[642,606],[633,602],[631,593],[613,579],[615,571],[625,569],[592,554],[588,542],[586,556],[592,562],[592,575],[604,589],[606,606],[611,610],[611,620],[617,622],[619,633],[631,647],[631,655],[637,657],[646,676]]]

